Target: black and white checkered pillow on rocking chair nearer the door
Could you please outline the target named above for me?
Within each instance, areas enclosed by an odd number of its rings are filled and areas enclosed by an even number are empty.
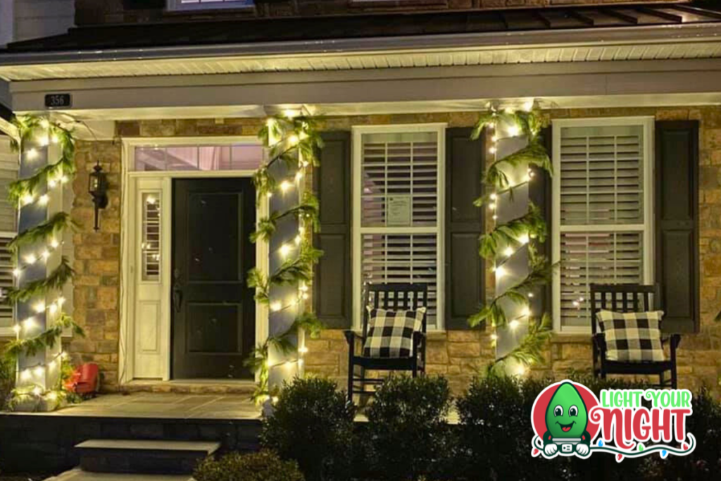
[[[367,358],[408,358],[413,348],[413,332],[423,327],[425,307],[417,311],[368,309],[371,322],[363,345]]]

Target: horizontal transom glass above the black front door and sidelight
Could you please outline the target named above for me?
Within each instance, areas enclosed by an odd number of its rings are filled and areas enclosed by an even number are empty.
[[[136,171],[255,170],[262,162],[258,144],[137,147]]]

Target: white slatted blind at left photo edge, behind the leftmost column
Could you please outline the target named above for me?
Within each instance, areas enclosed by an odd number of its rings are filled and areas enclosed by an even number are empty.
[[[10,150],[9,140],[0,138],[0,289],[6,292],[12,288],[12,255],[7,245],[17,231],[17,210],[7,200],[8,187],[17,180],[17,155]],[[12,327],[13,308],[11,305],[0,304],[0,328]]]

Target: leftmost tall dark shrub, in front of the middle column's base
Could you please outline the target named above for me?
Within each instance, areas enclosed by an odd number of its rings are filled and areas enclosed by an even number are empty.
[[[347,480],[355,406],[321,378],[294,379],[263,423],[261,443],[295,459],[308,480]]]

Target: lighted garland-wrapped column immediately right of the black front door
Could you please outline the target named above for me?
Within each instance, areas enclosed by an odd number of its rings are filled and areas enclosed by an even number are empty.
[[[257,304],[268,310],[270,335],[247,360],[257,372],[256,402],[265,402],[283,381],[303,374],[306,332],[315,337],[322,329],[306,310],[314,266],[322,256],[311,244],[319,229],[318,199],[305,188],[310,170],[319,167],[316,152],[322,140],[316,123],[287,112],[268,119],[259,134],[266,159],[253,180],[258,202],[267,199],[270,213],[258,220],[251,240],[267,244],[270,268],[267,275],[251,270],[248,283],[256,289]]]

